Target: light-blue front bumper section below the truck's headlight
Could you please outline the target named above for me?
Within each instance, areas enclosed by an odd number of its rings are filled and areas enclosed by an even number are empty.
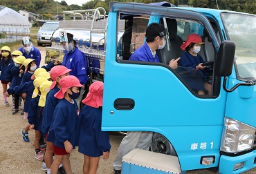
[[[240,166],[240,167],[239,167]],[[219,173],[243,173],[256,166],[256,150],[237,157],[221,155]],[[237,168],[234,170],[234,168]]]

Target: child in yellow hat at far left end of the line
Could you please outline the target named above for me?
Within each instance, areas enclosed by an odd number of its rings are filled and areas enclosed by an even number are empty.
[[[12,56],[10,54],[10,48],[8,46],[3,46],[1,48],[0,58],[0,80],[3,87],[3,101],[5,106],[10,106],[6,98],[6,90],[8,84],[8,81],[6,81],[6,70],[8,68],[8,65],[12,63]]]

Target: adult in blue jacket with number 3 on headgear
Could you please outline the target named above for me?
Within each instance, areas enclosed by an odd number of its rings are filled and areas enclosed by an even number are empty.
[[[68,69],[71,69],[69,75],[73,75],[79,79],[80,84],[83,86],[87,83],[87,61],[84,53],[80,51],[76,42],[73,39],[71,33],[66,33],[68,41],[62,41],[62,46],[64,48],[65,55],[63,57],[62,65]],[[80,102],[82,101],[82,93],[84,93],[84,87],[80,89],[80,97],[75,99],[77,101],[77,106],[80,110]]]

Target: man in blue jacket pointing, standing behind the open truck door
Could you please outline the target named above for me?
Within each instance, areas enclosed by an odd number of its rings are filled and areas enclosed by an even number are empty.
[[[165,28],[158,23],[151,23],[146,30],[146,42],[138,48],[129,58],[130,61],[151,61],[159,62],[156,55],[156,50],[165,47]],[[172,59],[169,66],[176,69],[177,61]],[[113,162],[113,169],[115,174],[120,174],[122,170],[122,157],[129,153],[134,148],[149,149],[152,140],[152,132],[127,132],[127,135],[122,139],[118,148],[116,159]]]

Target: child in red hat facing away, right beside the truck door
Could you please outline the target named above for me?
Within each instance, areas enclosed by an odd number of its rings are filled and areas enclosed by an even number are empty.
[[[82,100],[83,106],[77,126],[78,151],[84,154],[84,174],[96,173],[100,156],[109,158],[109,133],[101,131],[103,82],[95,81]]]

